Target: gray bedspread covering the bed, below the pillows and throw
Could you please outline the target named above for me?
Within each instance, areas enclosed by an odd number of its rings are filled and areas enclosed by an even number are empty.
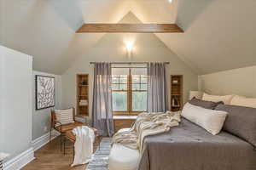
[[[256,150],[230,133],[213,136],[183,119],[170,132],[144,139],[139,170],[256,170]]]

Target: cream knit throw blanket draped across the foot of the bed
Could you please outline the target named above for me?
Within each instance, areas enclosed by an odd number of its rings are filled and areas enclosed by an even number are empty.
[[[180,111],[141,113],[129,131],[113,135],[113,143],[141,151],[146,136],[167,132],[178,126],[180,121]]]

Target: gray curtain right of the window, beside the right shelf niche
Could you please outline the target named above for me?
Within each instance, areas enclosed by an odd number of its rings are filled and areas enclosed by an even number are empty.
[[[148,112],[167,111],[168,95],[164,63],[148,63]]]

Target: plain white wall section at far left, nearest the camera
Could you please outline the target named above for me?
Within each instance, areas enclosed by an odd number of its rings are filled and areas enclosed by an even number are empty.
[[[31,147],[32,57],[0,46],[0,152],[9,159]]]

